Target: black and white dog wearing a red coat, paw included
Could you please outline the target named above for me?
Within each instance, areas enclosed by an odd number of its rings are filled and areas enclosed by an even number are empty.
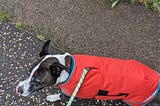
[[[48,52],[50,40],[43,45],[41,60],[29,77],[19,82],[16,93],[29,96],[50,85],[58,85],[60,94],[49,95],[47,101],[71,96],[84,69],[88,73],[76,97],[97,100],[122,100],[131,106],[143,106],[152,101],[160,89],[160,75],[136,60],[122,60],[89,55]]]

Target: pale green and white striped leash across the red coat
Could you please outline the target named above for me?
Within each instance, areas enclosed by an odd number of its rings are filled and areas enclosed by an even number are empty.
[[[83,83],[83,80],[85,78],[85,76],[87,75],[88,71],[90,70],[90,68],[87,68],[87,69],[84,69],[83,70],[83,73],[81,75],[81,78],[76,86],[76,88],[74,89],[74,92],[72,93],[72,96],[70,97],[69,99],[69,102],[67,104],[67,106],[71,106],[72,102],[73,102],[73,99],[75,98],[76,94],[78,93],[79,91],[79,88],[81,87],[82,83]]]

